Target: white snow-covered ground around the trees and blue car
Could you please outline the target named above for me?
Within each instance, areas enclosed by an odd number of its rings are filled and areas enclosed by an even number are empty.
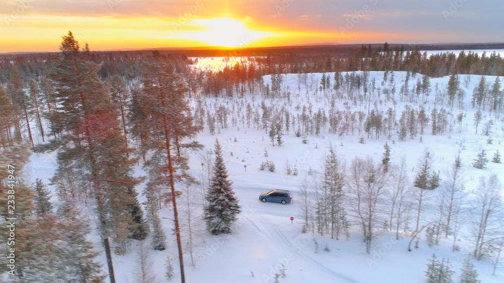
[[[503,51],[503,50],[500,50]],[[434,51],[428,51],[434,52]],[[454,51],[458,54],[457,51]],[[488,54],[489,52],[487,52]],[[213,62],[212,62],[213,61]],[[212,65],[216,63],[215,59],[201,60],[200,64]],[[221,63],[221,61],[219,61]],[[328,73],[329,77],[334,78],[333,73]],[[344,75],[344,73],[343,73]],[[369,81],[376,79],[376,84],[380,85],[384,76],[383,72],[370,72]],[[405,72],[395,72],[395,86],[399,90],[404,83]],[[296,105],[299,104],[308,106],[312,104],[313,112],[317,112],[319,108],[329,110],[328,100],[316,100],[313,96],[314,88],[318,87],[322,74],[308,74],[308,83],[306,89],[303,83],[299,83],[298,74],[283,75],[282,90],[290,91],[291,104],[286,102],[285,98],[264,99],[266,105],[274,105],[277,108],[286,107],[293,115],[301,113],[300,109],[296,110]],[[421,75],[416,75],[410,80],[410,87],[416,82]],[[466,78],[468,77],[468,78]],[[449,77],[432,78],[431,85],[437,83],[439,91],[446,91],[446,85]],[[325,132],[317,135],[308,135],[307,143],[302,143],[301,137],[296,137],[294,131],[296,128],[291,128],[289,134],[285,134],[282,139],[284,144],[272,146],[269,140],[268,133],[263,129],[255,129],[254,126],[247,127],[243,121],[244,106],[252,102],[252,97],[247,93],[243,98],[238,98],[236,95],[232,99],[209,98],[205,99],[207,110],[215,111],[218,105],[225,105],[229,110],[228,129],[218,129],[216,123],[216,134],[210,135],[208,126],[205,123],[205,129],[197,137],[197,140],[205,145],[205,149],[201,152],[188,152],[190,157],[190,173],[197,179],[205,179],[207,176],[207,161],[203,156],[205,152],[213,150],[215,139],[218,138],[223,145],[224,159],[229,171],[229,178],[234,183],[234,191],[239,199],[239,204],[242,207],[242,213],[239,220],[234,224],[230,235],[212,236],[204,231],[203,225],[197,232],[197,247],[194,252],[195,267],[191,266],[191,259],[188,253],[184,255],[185,273],[187,282],[274,282],[275,273],[278,273],[282,264],[286,269],[286,277],[279,278],[280,282],[424,282],[427,259],[431,258],[435,253],[437,258],[450,259],[452,262],[452,270],[456,273],[453,276],[454,281],[458,281],[462,262],[468,253],[472,252],[472,237],[469,234],[469,229],[463,227],[459,242],[460,250],[452,252],[453,238],[442,238],[439,245],[428,247],[425,236],[420,236],[418,249],[408,251],[408,243],[411,239],[410,233],[404,233],[401,229],[400,239],[395,239],[395,231],[379,231],[377,239],[372,245],[371,253],[365,253],[365,245],[362,242],[362,236],[359,228],[353,225],[350,228],[349,238],[340,238],[339,240],[331,239],[330,236],[317,236],[318,251],[313,241],[313,235],[310,233],[301,233],[302,220],[300,217],[300,184],[303,180],[308,183],[317,176],[323,173],[323,160],[332,147],[337,152],[338,156],[344,158],[349,164],[356,156],[370,156],[375,161],[380,162],[384,149],[385,142],[392,147],[391,162],[398,164],[401,158],[405,158],[409,169],[409,180],[412,184],[418,159],[422,156],[423,150],[428,148],[434,154],[433,167],[439,170],[443,180],[447,179],[446,173],[453,164],[458,151],[461,150],[461,158],[464,169],[464,182],[468,200],[471,200],[474,188],[478,185],[480,176],[488,177],[490,173],[496,173],[502,177],[503,164],[488,162],[486,169],[476,169],[471,163],[476,158],[477,153],[481,149],[485,149],[488,153],[488,159],[491,160],[493,153],[500,149],[504,152],[504,147],[501,142],[504,142],[502,132],[502,121],[495,121],[493,114],[484,112],[484,118],[481,121],[478,134],[475,134],[473,126],[473,115],[475,110],[472,110],[470,105],[472,91],[477,86],[480,76],[460,75],[461,88],[465,90],[466,97],[463,104],[463,109],[457,107],[453,110],[452,117],[458,113],[466,114],[461,133],[458,133],[458,124],[451,131],[445,132],[443,135],[432,136],[430,128],[425,129],[422,135],[422,141],[419,141],[420,135],[411,139],[409,136],[406,141],[399,141],[397,133],[393,133],[388,139],[387,135],[382,135],[379,139],[367,138],[367,135],[362,132],[354,135],[345,135],[339,137],[337,134],[329,134],[327,129]],[[493,83],[495,77],[487,77],[487,81]],[[271,76],[264,77],[264,83],[269,83]],[[311,82],[311,83],[310,83]],[[466,83],[467,82],[467,85]],[[310,85],[311,84],[311,85]],[[299,88],[298,88],[299,85]],[[334,91],[334,90],[333,90]],[[296,96],[299,93],[299,96]],[[319,93],[320,96],[320,93]],[[422,105],[427,114],[430,114],[434,107],[433,98],[434,90],[429,99],[419,101],[417,103],[400,102],[399,94],[396,93],[397,119],[401,114],[405,105],[410,105],[414,109],[418,109],[418,105]],[[382,100],[384,95],[382,94]],[[254,109],[261,105],[263,99],[260,95],[254,98]],[[340,110],[345,109],[344,103],[348,102],[345,99],[336,100],[336,106]],[[425,102],[425,103],[424,103]],[[196,107],[196,101],[192,101],[193,107]],[[367,114],[367,103],[348,104],[350,110],[363,111]],[[371,108],[373,104],[371,103]],[[377,103],[377,109],[386,111],[389,107],[394,107],[392,102]],[[437,108],[447,106],[437,105]],[[232,119],[237,119],[236,126],[232,125]],[[487,143],[487,136],[481,135],[483,125],[488,120],[494,119],[495,124],[491,128],[492,144]],[[365,144],[359,143],[359,138],[363,136]],[[37,142],[37,141],[36,141]],[[39,141],[40,142],[40,141]],[[268,151],[268,157],[265,157],[265,149]],[[270,160],[276,165],[276,171],[268,170],[261,171],[259,166],[261,162]],[[299,174],[287,175],[285,173],[286,162],[291,166],[297,164]],[[203,166],[201,165],[203,163]],[[246,165],[246,171],[244,168]],[[54,154],[33,154],[28,169],[31,169],[33,180],[41,178],[44,182],[49,183],[49,178],[52,176],[55,169]],[[308,175],[309,168],[312,168],[313,175]],[[146,175],[142,170],[141,164],[136,168],[136,174]],[[142,184],[143,185],[143,184]],[[141,197],[142,185],[137,188],[140,193],[139,199],[145,201]],[[425,192],[430,200],[426,203],[426,209],[422,217],[422,224],[431,221],[435,207],[435,196],[442,190],[441,187],[434,191]],[[274,189],[289,190],[293,193],[292,204],[281,205],[278,203],[261,203],[259,194],[264,191]],[[181,187],[177,190],[182,190]],[[198,193],[193,196],[195,199],[201,199],[200,188],[194,188]],[[308,190],[312,192],[311,186]],[[53,198],[56,201],[56,198]],[[178,206],[183,207],[186,200],[183,196],[178,201]],[[467,207],[470,206],[466,204]],[[85,208],[85,211],[92,214],[92,210]],[[201,207],[195,210],[195,213],[201,215]],[[154,260],[154,268],[157,273],[159,282],[165,282],[164,278],[164,263],[166,255],[169,254],[172,258],[175,268],[174,282],[179,281],[179,270],[177,265],[177,248],[175,236],[172,235],[172,211],[169,207],[160,211],[162,224],[168,236],[168,248],[164,251],[151,250],[150,256]],[[181,218],[184,217],[182,213]],[[294,217],[293,223],[290,217]],[[353,223],[350,217],[351,224]],[[412,226],[411,224],[410,226]],[[95,244],[96,250],[103,250],[99,237],[92,234],[92,241]],[[182,240],[187,240],[187,235],[182,235]],[[144,242],[149,243],[150,237]],[[146,244],[147,244],[146,243]],[[133,243],[134,246],[137,243]],[[328,247],[330,251],[324,250]],[[104,270],[106,270],[105,254],[102,252],[99,257]],[[120,283],[133,283],[132,270],[135,265],[135,252],[132,251],[127,255],[113,255],[113,264],[115,269],[116,281]],[[479,272],[479,278],[482,282],[502,282],[504,281],[504,270],[497,269],[496,274],[492,275],[493,264],[491,260],[474,261]],[[108,280],[108,277],[107,277]]]

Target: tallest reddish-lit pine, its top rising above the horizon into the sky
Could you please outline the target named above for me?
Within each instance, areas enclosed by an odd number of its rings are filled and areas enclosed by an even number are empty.
[[[136,202],[133,177],[133,149],[122,136],[118,113],[110,93],[98,76],[86,45],[80,51],[73,34],[63,37],[61,56],[51,76],[56,85],[58,107],[49,119],[51,134],[61,133],[49,143],[37,145],[36,152],[57,151],[58,163],[72,164],[83,173],[79,181],[92,188],[96,200],[99,233],[104,241],[109,270],[112,271],[108,238],[131,236],[135,223],[131,211]],[[143,221],[143,220],[142,220]],[[130,229],[129,232],[125,231]],[[113,272],[109,272],[112,279]]]

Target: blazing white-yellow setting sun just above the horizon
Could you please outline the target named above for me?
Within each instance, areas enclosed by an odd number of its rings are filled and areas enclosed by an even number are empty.
[[[169,35],[172,39],[201,41],[211,46],[247,47],[254,41],[279,36],[278,33],[250,29],[232,18],[197,19],[188,21],[187,29]]]

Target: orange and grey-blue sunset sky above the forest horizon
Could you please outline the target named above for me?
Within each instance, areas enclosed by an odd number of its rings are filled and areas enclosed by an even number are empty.
[[[2,0],[0,53],[309,43],[504,42],[501,0]]]

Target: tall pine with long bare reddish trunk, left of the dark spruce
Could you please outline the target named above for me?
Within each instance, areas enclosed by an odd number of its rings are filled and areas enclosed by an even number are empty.
[[[185,100],[187,89],[184,81],[175,73],[173,65],[161,59],[159,52],[154,51],[152,58],[145,62],[143,70],[143,88],[138,102],[143,113],[149,117],[143,125],[143,130],[148,133],[143,151],[151,152],[151,158],[145,164],[149,169],[148,187],[153,190],[166,190],[169,184],[180,276],[184,282],[175,181],[185,178],[186,171],[181,169],[188,168],[187,159],[181,154],[181,148],[194,150],[203,148],[201,144],[191,140],[202,128],[193,123],[191,108]],[[189,141],[181,143],[183,140]]]

